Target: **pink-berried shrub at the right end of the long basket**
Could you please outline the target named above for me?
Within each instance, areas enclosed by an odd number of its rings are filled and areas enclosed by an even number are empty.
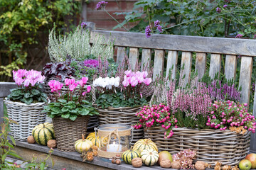
[[[234,101],[215,101],[210,104],[208,121],[210,128],[226,130],[230,126],[244,126],[246,130],[255,133],[256,123],[252,113],[247,112],[247,103],[239,104]]]

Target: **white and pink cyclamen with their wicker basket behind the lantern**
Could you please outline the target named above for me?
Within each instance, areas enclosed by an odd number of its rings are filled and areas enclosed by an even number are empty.
[[[127,64],[125,63],[127,62]],[[124,66],[128,66],[128,68]],[[96,91],[95,104],[99,111],[100,125],[123,123],[132,125],[139,120],[135,113],[140,107],[149,103],[153,94],[152,72],[140,72],[140,67],[130,69],[128,57],[117,69],[115,77],[108,77],[103,72],[93,81]],[[127,69],[127,70],[126,70]],[[143,130],[134,130],[132,142],[144,137]]]

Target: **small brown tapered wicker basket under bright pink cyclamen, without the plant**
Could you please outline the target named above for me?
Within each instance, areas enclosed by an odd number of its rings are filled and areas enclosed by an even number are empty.
[[[63,152],[75,152],[75,141],[86,135],[90,115],[78,116],[74,121],[61,117],[53,118],[53,127],[57,149]]]

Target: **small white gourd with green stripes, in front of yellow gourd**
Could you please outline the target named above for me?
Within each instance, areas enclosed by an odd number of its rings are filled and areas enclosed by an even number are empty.
[[[154,149],[145,149],[142,151],[142,162],[146,166],[152,166],[156,164],[159,159],[159,154]]]

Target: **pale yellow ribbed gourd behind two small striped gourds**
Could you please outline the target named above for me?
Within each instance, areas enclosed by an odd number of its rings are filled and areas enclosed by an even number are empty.
[[[153,141],[151,141],[151,139],[138,140],[134,144],[133,148],[134,150],[138,150],[140,153],[142,153],[144,149],[154,149],[156,152],[158,152],[156,144]]]

